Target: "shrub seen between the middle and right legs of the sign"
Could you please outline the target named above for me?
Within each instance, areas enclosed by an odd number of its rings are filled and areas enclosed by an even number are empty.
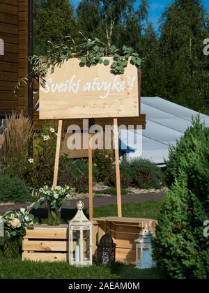
[[[113,170],[113,153],[97,149],[93,151],[93,163],[98,169],[98,180],[104,182]]]

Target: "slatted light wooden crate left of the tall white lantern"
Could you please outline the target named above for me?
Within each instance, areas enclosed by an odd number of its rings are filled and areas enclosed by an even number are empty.
[[[68,225],[40,225],[26,230],[22,241],[22,260],[66,262]]]

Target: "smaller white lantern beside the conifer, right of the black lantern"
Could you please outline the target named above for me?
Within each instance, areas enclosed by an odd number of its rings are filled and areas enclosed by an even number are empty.
[[[148,224],[141,230],[136,243],[136,267],[138,269],[148,269],[156,266],[152,258],[153,234],[150,232]]]

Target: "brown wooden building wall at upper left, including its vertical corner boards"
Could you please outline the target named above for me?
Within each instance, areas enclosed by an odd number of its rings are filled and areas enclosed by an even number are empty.
[[[15,97],[15,84],[28,72],[28,1],[0,0],[0,38],[4,56],[0,56],[0,112],[27,112],[27,87]]]

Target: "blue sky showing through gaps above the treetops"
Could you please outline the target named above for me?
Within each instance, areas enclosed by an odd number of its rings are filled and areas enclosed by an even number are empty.
[[[71,0],[73,5],[75,7],[78,6],[80,0]],[[158,30],[158,20],[160,15],[162,15],[162,11],[164,8],[171,3],[172,0],[149,0],[150,3],[150,12],[149,12],[149,21],[153,22],[153,25],[155,27],[155,30]],[[202,0],[204,6],[208,10],[209,13],[209,1],[208,0]],[[140,0],[136,1],[136,7],[139,6]]]

